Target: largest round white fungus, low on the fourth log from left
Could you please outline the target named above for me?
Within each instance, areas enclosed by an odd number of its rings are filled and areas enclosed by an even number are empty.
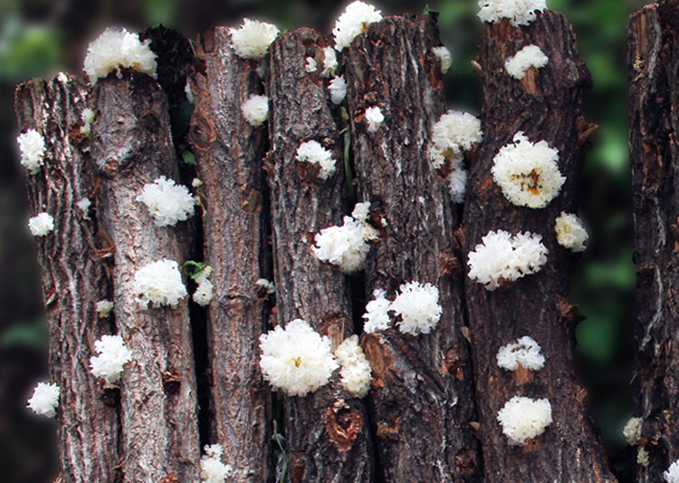
[[[263,333],[259,341],[264,380],[289,396],[303,397],[316,391],[339,367],[330,339],[301,319],[292,320],[284,329],[279,325]]]

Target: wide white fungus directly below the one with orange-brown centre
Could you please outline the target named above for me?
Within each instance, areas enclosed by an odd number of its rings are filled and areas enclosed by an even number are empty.
[[[493,291],[502,282],[511,283],[539,272],[549,253],[541,239],[530,231],[514,237],[504,230],[488,232],[482,243],[469,252],[469,278]]]

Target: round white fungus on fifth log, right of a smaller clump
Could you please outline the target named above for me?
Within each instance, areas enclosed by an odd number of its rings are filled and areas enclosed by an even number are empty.
[[[399,291],[390,310],[400,316],[400,331],[413,335],[429,333],[438,324],[443,312],[438,304],[438,288],[431,284],[409,282],[401,285]]]

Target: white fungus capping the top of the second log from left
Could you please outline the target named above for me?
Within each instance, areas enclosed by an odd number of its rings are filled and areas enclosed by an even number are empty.
[[[150,39],[143,43],[139,35],[125,29],[108,28],[90,43],[82,70],[94,85],[110,72],[131,69],[156,77],[156,54],[149,47]]]

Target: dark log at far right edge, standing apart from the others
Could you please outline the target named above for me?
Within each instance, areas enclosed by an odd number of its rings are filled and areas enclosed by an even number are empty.
[[[679,7],[647,5],[629,24],[630,162],[636,262],[635,416],[650,457],[637,481],[662,481],[679,459]]]

